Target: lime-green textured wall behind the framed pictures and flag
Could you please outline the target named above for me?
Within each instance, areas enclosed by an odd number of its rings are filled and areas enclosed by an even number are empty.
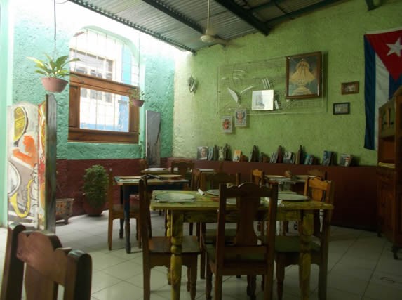
[[[270,153],[282,145],[296,152],[299,145],[322,157],[323,150],[347,152],[360,164],[376,164],[377,152],[363,148],[364,54],[363,34],[401,26],[402,1],[382,1],[368,11],[366,1],[351,0],[278,25],[265,37],[249,34],[234,40],[234,46],[211,46],[195,56],[177,60],[173,156],[196,157],[200,145],[225,145],[246,155],[253,145]],[[328,109],[302,115],[252,115],[247,128],[233,134],[220,133],[216,115],[217,66],[323,51],[327,53],[325,83]],[[285,70],[283,70],[285,72]],[[195,94],[189,93],[187,79],[199,81]],[[341,95],[342,82],[359,81],[360,93]],[[333,115],[333,103],[350,102],[350,115]]]

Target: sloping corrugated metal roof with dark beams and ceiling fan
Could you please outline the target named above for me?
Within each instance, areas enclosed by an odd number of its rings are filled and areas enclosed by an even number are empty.
[[[345,0],[210,0],[209,23],[217,39],[209,44],[200,40],[206,30],[208,0],[69,1],[196,52],[254,32],[269,34],[280,22]]]

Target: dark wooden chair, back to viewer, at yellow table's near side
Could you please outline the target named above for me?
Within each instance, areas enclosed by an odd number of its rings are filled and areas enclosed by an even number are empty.
[[[237,223],[236,235],[231,242],[225,236],[227,216],[227,198],[236,197]],[[254,221],[260,207],[260,197],[269,197],[269,218],[267,240],[260,244],[254,230]],[[247,294],[255,299],[255,276],[262,275],[264,281],[264,299],[272,299],[272,281],[274,273],[274,242],[276,231],[276,209],[278,204],[278,186],[272,188],[255,183],[242,183],[227,188],[220,185],[219,212],[217,216],[216,244],[207,244],[208,267],[206,273],[206,299],[211,299],[212,274],[215,275],[215,300],[222,299],[222,276],[247,275]]]

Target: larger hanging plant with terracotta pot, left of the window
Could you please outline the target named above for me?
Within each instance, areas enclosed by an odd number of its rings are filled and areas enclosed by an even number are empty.
[[[46,91],[53,93],[60,93],[65,89],[68,81],[63,79],[69,76],[68,63],[79,61],[79,58],[68,59],[69,56],[59,56],[58,58],[51,58],[48,54],[45,54],[47,60],[39,60],[37,58],[28,57],[36,63],[36,73],[45,75],[42,77],[42,84]]]

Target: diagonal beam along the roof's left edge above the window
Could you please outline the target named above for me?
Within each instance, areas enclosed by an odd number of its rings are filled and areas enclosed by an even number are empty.
[[[112,20],[115,20],[117,22],[120,22],[128,27],[134,28],[135,30],[138,30],[140,32],[144,32],[146,34],[149,34],[150,36],[160,39],[161,41],[165,41],[166,43],[176,46],[177,48],[181,48],[182,50],[190,51],[192,53],[195,53],[195,49],[190,48],[186,45],[180,44],[177,41],[173,41],[173,39],[168,39],[166,37],[163,37],[161,34],[158,34],[152,30],[149,30],[145,27],[142,27],[138,24],[135,24],[134,22],[131,22],[130,20],[124,19],[119,17],[119,15],[115,15],[114,13],[110,13],[109,11],[105,11],[104,9],[98,7],[98,6],[93,6],[91,4],[88,4],[87,1],[84,0],[68,0],[74,4],[77,4],[79,6],[83,6],[85,8],[88,8],[91,11],[95,11],[95,13],[99,13],[100,15],[104,15],[107,18],[111,18]]]

